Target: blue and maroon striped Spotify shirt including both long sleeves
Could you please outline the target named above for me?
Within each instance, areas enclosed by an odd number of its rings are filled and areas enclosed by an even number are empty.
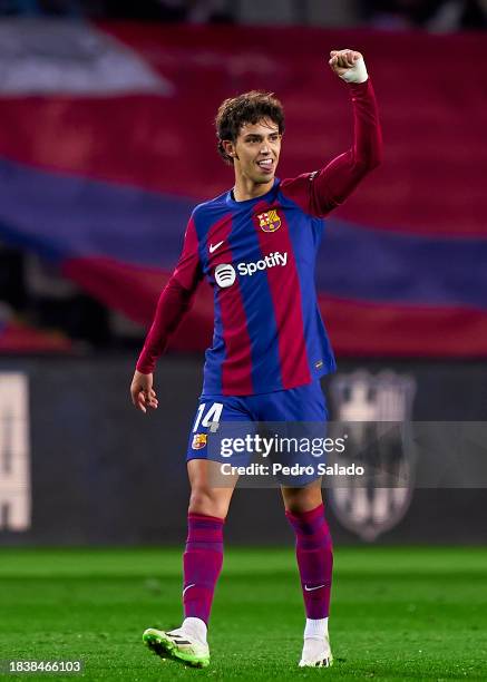
[[[215,305],[203,394],[291,389],[334,370],[314,284],[323,216],[381,157],[370,79],[349,87],[355,121],[349,152],[319,172],[275,179],[257,198],[236,202],[226,192],[196,206],[138,360],[139,371],[154,370],[202,277],[213,286]]]

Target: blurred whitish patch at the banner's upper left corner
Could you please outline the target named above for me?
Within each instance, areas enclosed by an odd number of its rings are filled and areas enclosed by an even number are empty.
[[[0,97],[171,96],[173,91],[173,85],[135,50],[89,23],[58,19],[0,22]]]

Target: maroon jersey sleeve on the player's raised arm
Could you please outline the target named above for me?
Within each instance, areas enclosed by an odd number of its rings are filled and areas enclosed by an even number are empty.
[[[372,82],[369,78],[348,88],[354,119],[352,147],[320,170],[281,183],[284,196],[316,217],[324,217],[339,206],[382,159],[382,134]]]

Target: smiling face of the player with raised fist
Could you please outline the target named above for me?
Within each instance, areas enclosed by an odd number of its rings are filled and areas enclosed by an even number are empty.
[[[281,139],[279,126],[272,120],[243,125],[233,145],[237,169],[255,184],[271,183],[277,167]]]

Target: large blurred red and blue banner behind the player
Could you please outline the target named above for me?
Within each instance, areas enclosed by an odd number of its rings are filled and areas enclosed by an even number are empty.
[[[316,169],[351,144],[325,59],[341,47],[366,56],[386,158],[328,220],[316,285],[337,354],[487,355],[481,35],[3,21],[0,238],[148,324],[192,207],[233,183],[220,103],[276,92],[280,177]],[[202,286],[173,348],[205,348],[212,321]]]

